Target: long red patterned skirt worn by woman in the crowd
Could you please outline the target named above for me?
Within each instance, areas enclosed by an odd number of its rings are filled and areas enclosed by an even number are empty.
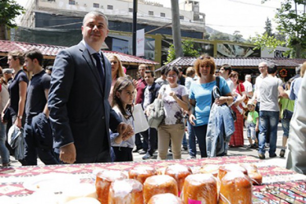
[[[241,105],[239,105],[241,106]],[[230,146],[243,146],[243,115],[240,114],[240,112],[237,110],[235,106],[231,107],[233,111],[235,111],[237,120],[234,123],[235,124],[235,132],[234,135],[231,137]]]

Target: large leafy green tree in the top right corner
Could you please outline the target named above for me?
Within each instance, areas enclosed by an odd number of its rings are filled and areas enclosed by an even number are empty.
[[[292,48],[291,56],[296,58],[306,57],[305,11],[305,0],[283,0],[275,15],[277,30],[287,34],[288,47]]]

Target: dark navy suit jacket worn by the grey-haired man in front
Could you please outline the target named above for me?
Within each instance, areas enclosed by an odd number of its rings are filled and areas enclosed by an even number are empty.
[[[55,59],[48,97],[55,148],[74,142],[77,162],[109,152],[109,129],[115,131],[121,122],[108,101],[112,78],[105,56],[104,70],[102,85],[82,42],[61,50]]]

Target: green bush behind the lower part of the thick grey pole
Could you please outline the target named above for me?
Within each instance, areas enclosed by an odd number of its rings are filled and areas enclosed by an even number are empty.
[[[194,44],[191,40],[184,40],[182,42],[182,48],[184,57],[197,57],[199,56],[199,52],[194,48]],[[168,64],[169,62],[175,60],[175,51],[174,46],[171,43],[169,50],[168,50],[168,56],[167,56],[167,62],[165,64]]]

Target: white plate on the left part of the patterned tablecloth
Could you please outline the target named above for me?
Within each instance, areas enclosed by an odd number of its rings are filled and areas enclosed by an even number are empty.
[[[77,175],[67,173],[48,173],[29,177],[23,183],[23,187],[30,191],[48,191],[52,193],[60,193],[66,188],[79,184],[80,179]]]

